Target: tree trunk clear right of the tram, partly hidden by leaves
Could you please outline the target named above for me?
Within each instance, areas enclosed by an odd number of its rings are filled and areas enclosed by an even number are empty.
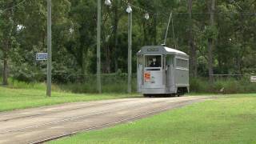
[[[210,1],[210,26],[214,26],[214,11],[215,11],[215,0]],[[210,84],[214,82],[214,70],[213,70],[213,47],[214,47],[214,39],[208,39],[208,70],[209,70],[209,80]]]

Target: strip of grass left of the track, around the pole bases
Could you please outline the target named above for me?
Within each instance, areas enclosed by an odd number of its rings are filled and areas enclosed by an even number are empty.
[[[52,93],[46,97],[46,90],[14,89],[0,86],[0,112],[6,110],[25,109],[38,106],[50,106],[67,102],[86,102],[114,98],[141,97],[139,94],[72,94],[66,92]]]

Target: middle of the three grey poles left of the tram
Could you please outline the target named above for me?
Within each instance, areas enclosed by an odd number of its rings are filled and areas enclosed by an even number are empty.
[[[98,93],[102,93],[101,82],[101,24],[102,22],[102,2],[98,0],[98,18],[97,18],[97,88]]]

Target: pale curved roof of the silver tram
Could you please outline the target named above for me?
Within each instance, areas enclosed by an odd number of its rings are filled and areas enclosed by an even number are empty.
[[[181,54],[188,56],[180,50],[166,46],[143,46],[142,49],[138,51],[138,54]]]

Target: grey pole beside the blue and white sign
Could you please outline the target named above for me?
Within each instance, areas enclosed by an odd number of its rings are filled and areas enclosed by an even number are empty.
[[[51,96],[51,0],[47,0],[47,91]]]

